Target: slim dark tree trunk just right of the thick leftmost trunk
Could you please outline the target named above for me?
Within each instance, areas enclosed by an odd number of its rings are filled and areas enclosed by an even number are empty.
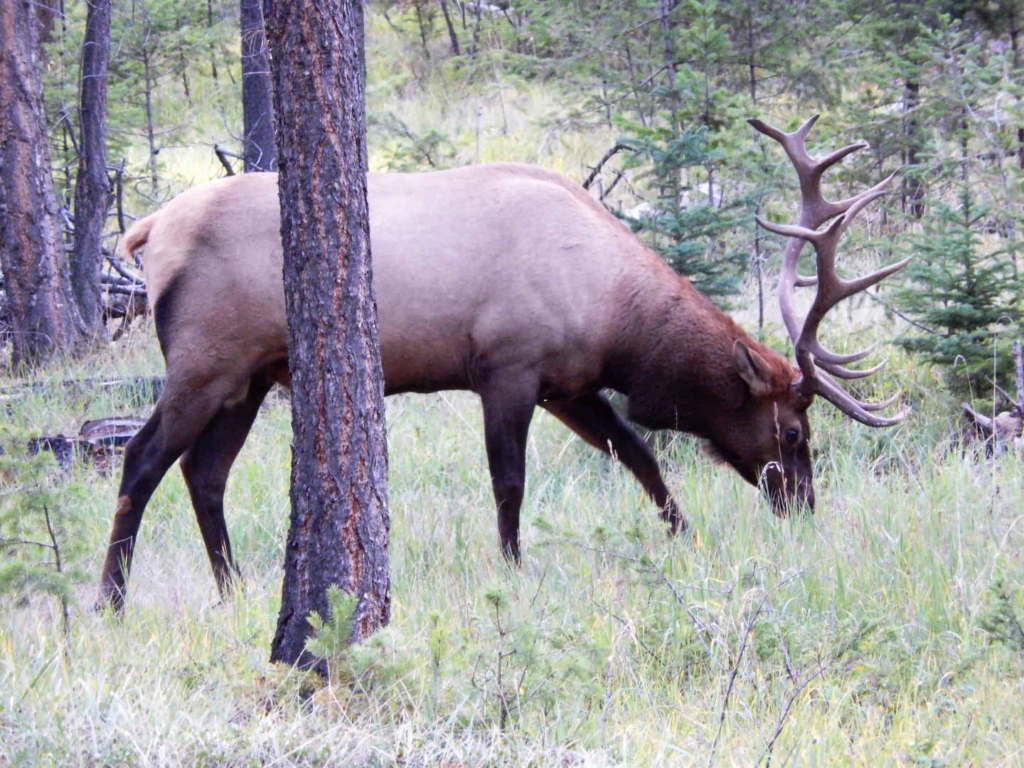
[[[110,208],[106,178],[106,63],[111,52],[111,2],[91,0],[82,43],[79,89],[78,176],[75,184],[75,247],[71,285],[87,331],[102,338],[99,270],[103,225]]]

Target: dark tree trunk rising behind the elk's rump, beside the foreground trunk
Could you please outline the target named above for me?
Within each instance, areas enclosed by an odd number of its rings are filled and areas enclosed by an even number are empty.
[[[242,155],[245,172],[278,170],[273,144],[270,59],[263,31],[262,0],[242,0]]]

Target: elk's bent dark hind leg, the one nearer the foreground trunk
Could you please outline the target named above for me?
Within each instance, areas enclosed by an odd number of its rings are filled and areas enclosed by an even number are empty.
[[[239,575],[224,522],[227,475],[271,386],[273,382],[265,375],[254,376],[246,398],[221,407],[181,457],[181,474],[191,497],[196,520],[221,597],[230,591],[232,580]]]

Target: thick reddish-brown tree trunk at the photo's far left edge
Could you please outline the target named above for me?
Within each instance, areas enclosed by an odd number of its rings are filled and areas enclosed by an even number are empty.
[[[0,3],[0,265],[15,366],[43,362],[85,337],[60,238],[37,41],[34,4]]]

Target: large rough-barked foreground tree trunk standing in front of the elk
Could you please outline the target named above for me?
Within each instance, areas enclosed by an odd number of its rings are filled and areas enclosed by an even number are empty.
[[[385,625],[387,443],[370,262],[361,0],[267,0],[292,372],[292,518],[271,660],[305,651],[327,588]]]

